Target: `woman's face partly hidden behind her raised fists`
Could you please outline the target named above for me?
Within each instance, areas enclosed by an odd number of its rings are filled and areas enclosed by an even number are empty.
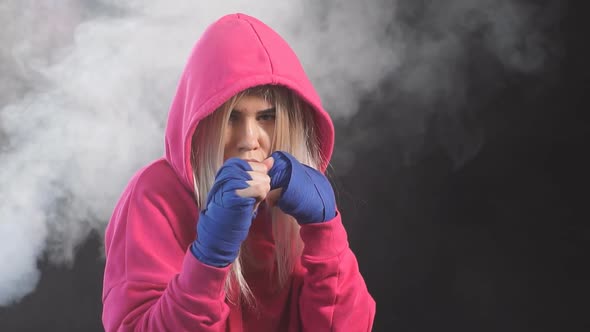
[[[244,96],[236,104],[225,130],[223,160],[237,157],[262,161],[270,156],[276,111],[263,98]]]

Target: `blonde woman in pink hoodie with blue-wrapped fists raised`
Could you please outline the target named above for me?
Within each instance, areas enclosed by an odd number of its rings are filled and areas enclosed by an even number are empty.
[[[333,125],[276,32],[244,14],[213,23],[165,140],[106,231],[107,331],[371,330],[375,302],[322,174]]]

